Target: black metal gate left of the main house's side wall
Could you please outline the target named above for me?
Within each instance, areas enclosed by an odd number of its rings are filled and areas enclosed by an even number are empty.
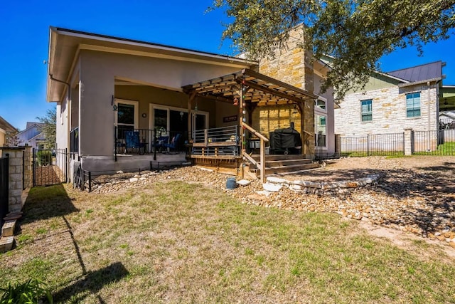
[[[66,149],[33,149],[33,187],[67,181]]]

